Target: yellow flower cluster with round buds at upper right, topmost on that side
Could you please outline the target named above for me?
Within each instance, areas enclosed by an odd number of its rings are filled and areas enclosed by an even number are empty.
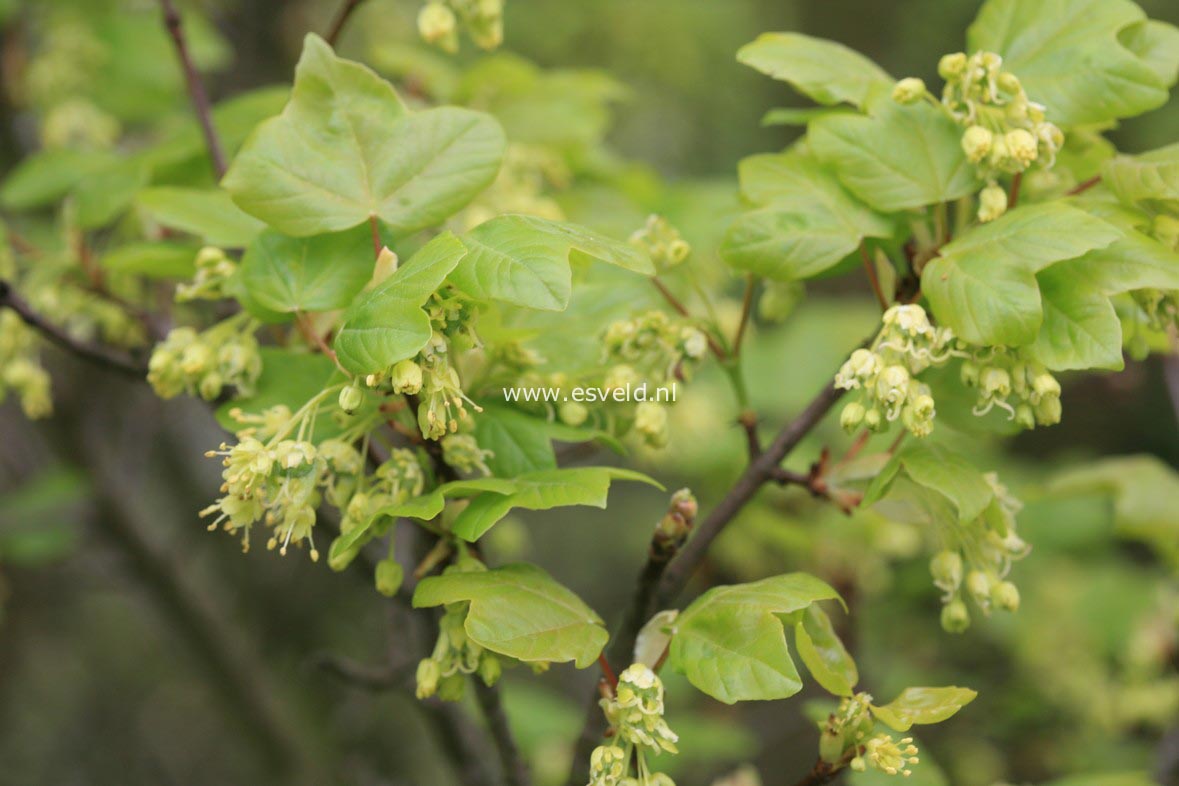
[[[1065,136],[1045,119],[1045,107],[1028,99],[1019,78],[1003,71],[994,52],[944,55],[937,73],[946,85],[941,106],[964,131],[962,152],[975,165],[987,186],[979,194],[979,220],[989,222],[1007,211],[1007,192],[997,184],[1002,174],[1025,172],[1033,164],[1052,169]],[[902,79],[893,97],[903,104],[929,98],[920,79]]]

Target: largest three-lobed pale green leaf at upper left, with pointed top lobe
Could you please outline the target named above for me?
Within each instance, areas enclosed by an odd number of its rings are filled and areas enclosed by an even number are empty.
[[[410,112],[389,82],[308,35],[282,114],[223,180],[246,212],[295,237],[380,218],[397,235],[441,223],[495,179],[503,131],[482,112]]]

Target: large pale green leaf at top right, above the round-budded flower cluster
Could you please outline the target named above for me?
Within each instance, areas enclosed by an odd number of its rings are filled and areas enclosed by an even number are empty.
[[[1154,66],[1119,40],[1145,19],[1129,0],[988,0],[967,32],[967,49],[1001,54],[1003,68],[1058,125],[1104,125],[1167,100]]]

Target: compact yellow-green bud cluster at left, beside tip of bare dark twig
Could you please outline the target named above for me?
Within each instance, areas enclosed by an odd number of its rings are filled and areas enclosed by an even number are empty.
[[[262,374],[256,326],[238,315],[203,332],[172,329],[152,351],[147,382],[160,398],[189,394],[212,401],[226,387],[249,396]]]

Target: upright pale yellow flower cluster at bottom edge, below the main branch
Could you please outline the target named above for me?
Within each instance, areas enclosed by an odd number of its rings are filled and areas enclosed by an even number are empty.
[[[613,740],[591,754],[590,786],[674,786],[646,760],[647,754],[678,753],[679,737],[664,720],[663,680],[645,663],[633,663],[618,675],[614,695],[600,704]],[[630,775],[632,757],[637,777]]]

